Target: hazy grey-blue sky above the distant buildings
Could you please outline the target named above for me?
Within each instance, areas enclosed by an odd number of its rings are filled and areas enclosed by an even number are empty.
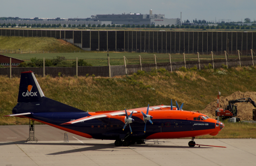
[[[0,17],[87,18],[96,14],[165,14],[182,21],[256,20],[256,0],[2,0]],[[229,20],[228,20],[229,19]]]

